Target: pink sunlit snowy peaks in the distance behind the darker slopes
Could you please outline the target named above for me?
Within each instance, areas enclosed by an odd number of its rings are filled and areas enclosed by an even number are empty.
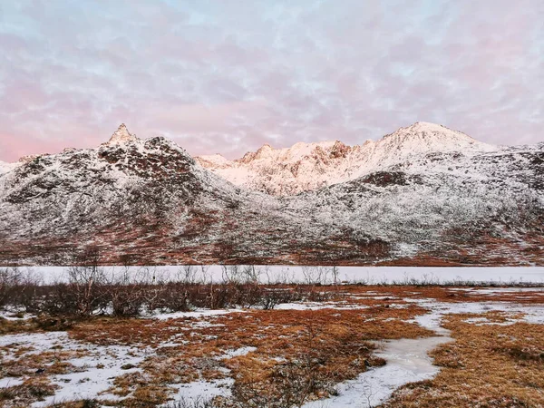
[[[455,151],[473,155],[493,150],[496,148],[461,131],[420,121],[380,141],[353,147],[341,141],[321,141],[299,142],[276,150],[266,144],[238,160],[230,161],[219,154],[196,160],[233,184],[285,196],[354,180],[422,154]]]

